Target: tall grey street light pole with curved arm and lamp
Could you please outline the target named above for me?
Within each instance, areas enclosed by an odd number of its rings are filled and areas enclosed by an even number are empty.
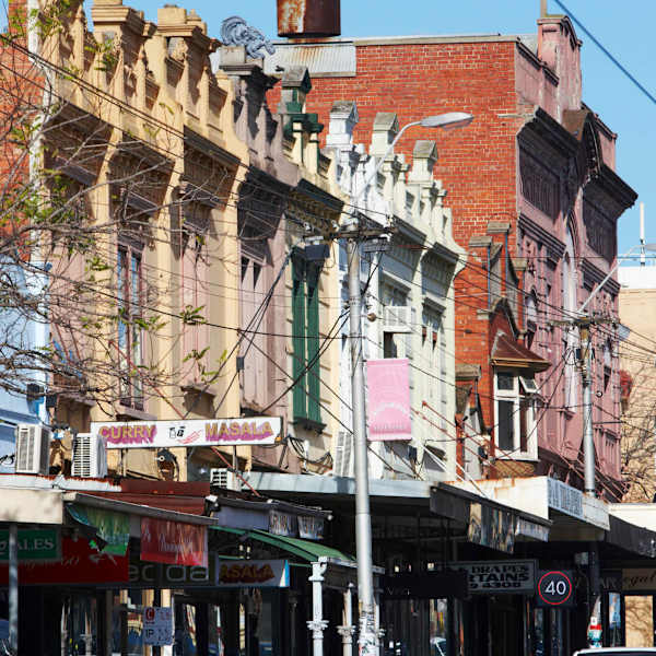
[[[410,122],[395,137],[387,152],[365,178],[362,188],[352,198],[353,220],[347,236],[349,276],[349,342],[351,350],[351,407],[355,455],[355,550],[358,558],[358,594],[360,599],[360,656],[376,656],[378,652],[374,620],[374,572],[372,559],[372,519],[368,494],[368,457],[364,399],[364,362],[362,356],[362,289],[360,284],[360,213],[358,202],[366,191],[403,132],[413,126],[426,128],[459,128],[473,117],[462,112],[450,112]]]

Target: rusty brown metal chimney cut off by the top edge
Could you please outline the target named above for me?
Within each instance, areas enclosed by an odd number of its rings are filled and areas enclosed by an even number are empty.
[[[278,0],[278,36],[341,34],[340,0]]]

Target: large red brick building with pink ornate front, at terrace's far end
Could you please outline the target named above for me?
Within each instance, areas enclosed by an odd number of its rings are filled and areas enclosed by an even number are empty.
[[[443,112],[475,115],[469,128],[440,134],[435,168],[449,190],[454,237],[468,249],[456,281],[455,356],[460,373],[480,366],[480,376],[459,384],[478,393],[472,407],[480,401],[487,426],[469,447],[478,454],[483,446],[481,469],[492,478],[543,473],[581,488],[577,337],[554,321],[572,318],[613,267],[617,220],[635,192],[614,172],[617,134],[582,99],[582,43],[572,23],[550,15],[537,27],[531,35],[288,40],[267,67],[274,73],[309,62],[307,110],[323,121],[335,101],[356,102],[356,142],[371,140],[378,112],[396,112],[401,126]],[[417,139],[431,138],[432,130],[409,130],[397,152],[410,157]],[[611,277],[588,311],[617,317],[618,291]],[[613,497],[617,333],[599,326],[594,341],[606,355],[594,365],[598,485]],[[535,405],[535,449],[522,448],[525,397]]]

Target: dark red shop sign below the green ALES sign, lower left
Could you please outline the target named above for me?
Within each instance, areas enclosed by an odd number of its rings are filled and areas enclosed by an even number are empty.
[[[84,538],[62,538],[61,561],[19,563],[20,585],[101,585],[127,583],[130,559],[93,549]],[[9,567],[0,566],[0,586],[8,585]]]

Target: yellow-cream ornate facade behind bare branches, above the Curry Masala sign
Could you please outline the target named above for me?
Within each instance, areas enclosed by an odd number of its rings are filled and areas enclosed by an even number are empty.
[[[232,85],[211,70],[219,42],[173,5],[156,24],[120,0],[96,0],[91,13],[93,32],[80,4],[42,46],[57,98],[46,164],[97,229],[93,261],[89,251],[57,261],[90,317],[83,328],[54,321],[62,356],[89,365],[83,379],[56,382],[58,421],[85,431],[239,417],[235,199],[248,149]],[[110,455],[109,468],[185,480],[187,449],[165,452]],[[195,457],[216,460],[206,448]]]

